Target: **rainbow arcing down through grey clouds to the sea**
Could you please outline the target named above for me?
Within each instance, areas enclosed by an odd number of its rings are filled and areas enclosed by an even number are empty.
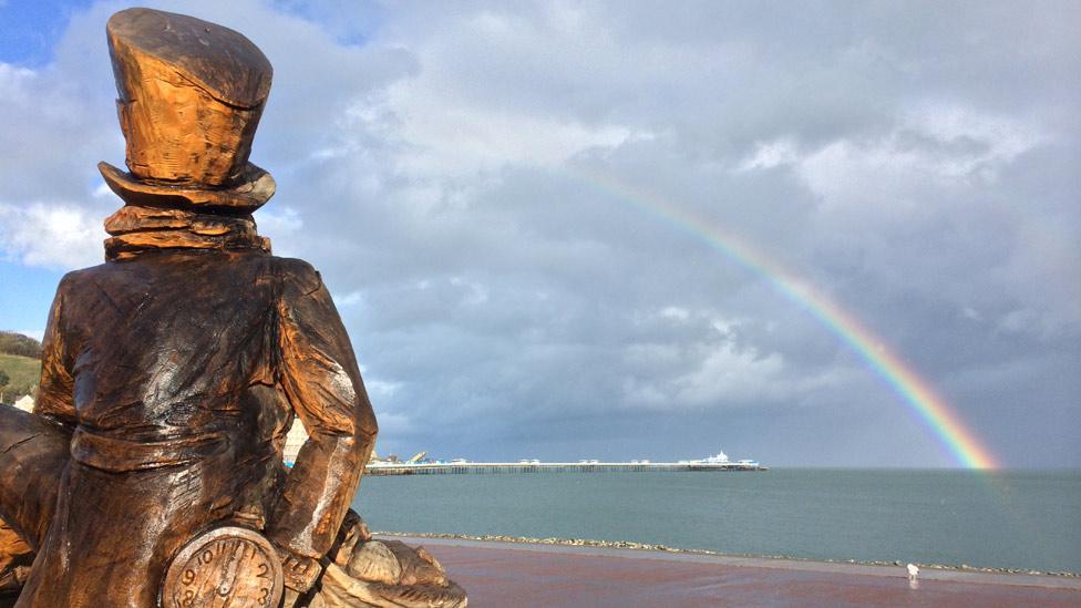
[[[763,277],[779,293],[811,313],[824,328],[866,361],[871,369],[902,398],[958,465],[967,468],[999,467],[997,458],[980,444],[957,413],[927,381],[913,371],[858,319],[823,293],[815,291],[812,286],[783,265],[735,235],[725,233],[659,196],[640,188],[632,188],[607,175],[580,171],[576,171],[575,174],[581,176],[593,187],[640,213],[659,218],[671,227],[708,243],[712,249],[728,259]]]

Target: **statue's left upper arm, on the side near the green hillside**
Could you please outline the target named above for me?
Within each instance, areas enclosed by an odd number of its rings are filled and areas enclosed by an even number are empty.
[[[41,342],[41,379],[38,396],[34,399],[34,413],[63,426],[68,432],[74,430],[75,403],[74,378],[71,373],[70,332],[66,327],[65,306],[70,290],[70,275],[60,281],[45,336]]]

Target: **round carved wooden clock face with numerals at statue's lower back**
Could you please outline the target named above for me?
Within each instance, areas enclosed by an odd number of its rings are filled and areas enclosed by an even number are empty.
[[[166,608],[276,607],[281,563],[270,543],[247,528],[225,526],[181,549],[165,575]]]

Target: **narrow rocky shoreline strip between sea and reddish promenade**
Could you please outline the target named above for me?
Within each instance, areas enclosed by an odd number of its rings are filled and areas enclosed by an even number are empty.
[[[498,534],[439,534],[439,533],[413,533],[413,532],[374,532],[374,535],[382,536],[410,536],[413,538],[446,538],[457,540],[482,540],[487,543],[508,543],[523,545],[564,545],[569,547],[600,547],[609,549],[636,549],[644,552],[665,552],[693,555],[717,555],[724,557],[753,557],[759,559],[790,559],[795,561],[824,561],[826,564],[856,564],[861,566],[904,566],[906,563],[895,561],[861,561],[857,559],[811,559],[806,557],[793,557],[791,555],[751,555],[751,554],[725,554],[709,549],[680,549],[667,545],[650,545],[646,543],[635,543],[631,540],[594,540],[589,538],[532,538],[528,536],[506,536]],[[1081,573],[1071,571],[1046,571],[1029,570],[1023,568],[987,568],[969,566],[948,566],[943,564],[916,564],[920,568],[929,570],[953,570],[960,573],[986,573],[986,574],[1010,574],[1010,575],[1034,575],[1034,576],[1057,576],[1063,578],[1081,578]]]

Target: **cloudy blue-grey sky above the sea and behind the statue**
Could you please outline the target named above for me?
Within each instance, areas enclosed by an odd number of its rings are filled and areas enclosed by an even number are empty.
[[[381,454],[1081,466],[1075,2],[145,6],[274,64]],[[0,1],[0,329],[103,260],[122,8]]]

